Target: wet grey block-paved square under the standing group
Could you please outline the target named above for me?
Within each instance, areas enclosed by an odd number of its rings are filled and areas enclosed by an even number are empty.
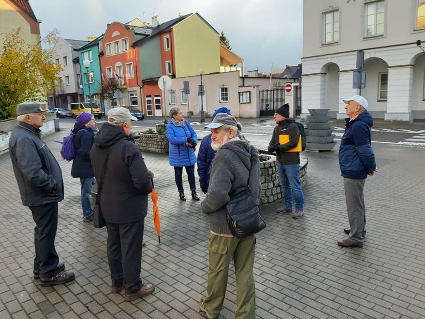
[[[60,144],[54,140],[65,134],[62,129],[44,137],[58,159]],[[379,171],[366,182],[363,248],[336,244],[348,226],[338,145],[330,152],[305,152],[304,217],[276,214],[277,202],[262,206],[267,228],[257,235],[257,318],[425,318],[425,151],[373,147]],[[21,205],[9,155],[0,155],[1,319],[203,318],[198,304],[206,291],[208,217],[200,202],[179,200],[167,155],[144,157],[155,172],[162,237],[159,244],[150,203],[141,275],[156,290],[128,303],[110,293],[106,230],[82,221],[79,180],[71,178],[71,163],[62,159],[65,199],[59,203],[56,248],[76,279],[55,287],[40,287],[32,279],[34,223]],[[235,299],[231,269],[220,318],[234,317]]]

